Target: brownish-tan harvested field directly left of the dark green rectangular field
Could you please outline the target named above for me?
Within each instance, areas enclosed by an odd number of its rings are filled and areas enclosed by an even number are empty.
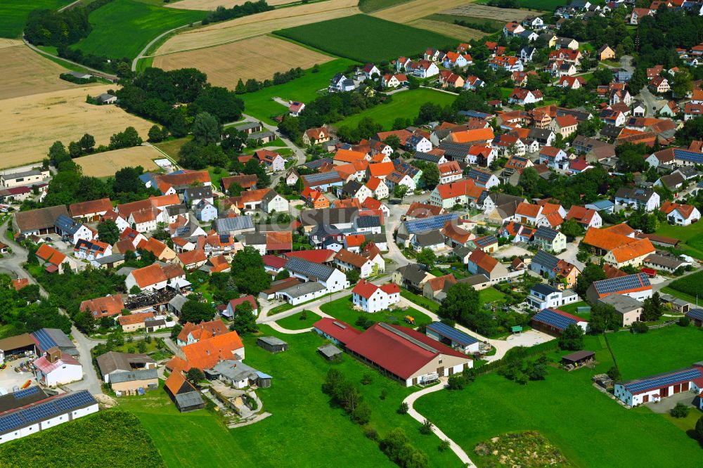
[[[272,78],[276,72],[287,72],[295,67],[305,70],[330,60],[333,60],[330,56],[292,42],[259,36],[199,51],[158,56],[154,59],[154,66],[164,70],[195,67],[207,74],[207,81],[211,84],[234,89],[240,78],[244,82],[250,78],[263,81]]]

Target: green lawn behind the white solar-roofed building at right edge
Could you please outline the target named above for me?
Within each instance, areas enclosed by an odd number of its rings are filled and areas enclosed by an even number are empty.
[[[622,377],[637,379],[701,360],[701,347],[695,344],[703,343],[703,330],[672,325],[645,334],[610,333],[608,342]]]

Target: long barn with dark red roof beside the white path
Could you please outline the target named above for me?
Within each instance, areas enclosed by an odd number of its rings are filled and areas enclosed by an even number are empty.
[[[324,328],[321,333],[343,343],[352,356],[405,386],[437,382],[439,377],[473,367],[465,354],[407,327],[376,323],[365,332],[352,333],[348,331],[351,325],[340,320],[333,321],[338,325],[329,325],[328,320],[319,320],[314,327]]]

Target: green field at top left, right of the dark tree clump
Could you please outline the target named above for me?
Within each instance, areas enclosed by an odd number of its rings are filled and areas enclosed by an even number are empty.
[[[110,58],[135,58],[162,32],[202,18],[204,11],[165,8],[161,0],[114,0],[90,14],[93,30],[73,48]]]

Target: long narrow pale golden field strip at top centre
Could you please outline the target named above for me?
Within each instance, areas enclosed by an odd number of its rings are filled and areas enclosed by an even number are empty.
[[[241,39],[269,34],[275,30],[307,25],[313,22],[332,20],[360,13],[359,0],[327,0],[316,4],[292,6],[279,10],[264,11],[236,20],[223,21],[198,30],[176,34],[165,42],[154,54],[192,51],[198,48],[219,46]]]

